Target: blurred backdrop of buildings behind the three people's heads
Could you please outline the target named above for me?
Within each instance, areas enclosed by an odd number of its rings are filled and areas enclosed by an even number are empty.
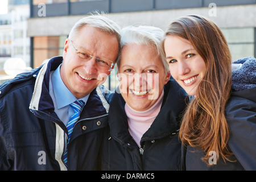
[[[0,15],[0,72],[9,57],[36,68],[62,55],[72,26],[93,10],[108,13],[121,27],[163,30],[179,16],[200,14],[224,32],[233,60],[256,57],[256,0],[9,0],[9,13]],[[110,90],[118,85],[115,74],[105,83]]]

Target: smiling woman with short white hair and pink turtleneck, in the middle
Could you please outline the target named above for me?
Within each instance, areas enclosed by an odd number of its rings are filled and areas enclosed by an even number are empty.
[[[163,35],[160,28],[151,26],[129,26],[121,31],[120,84],[110,103],[104,170],[179,168],[177,131],[185,92],[170,80],[160,48]]]

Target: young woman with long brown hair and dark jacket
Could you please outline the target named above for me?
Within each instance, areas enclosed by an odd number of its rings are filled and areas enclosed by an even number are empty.
[[[256,61],[231,72],[228,43],[211,20],[188,15],[172,22],[162,42],[172,77],[195,96],[179,137],[183,169],[256,169]],[[233,87],[232,87],[233,84]]]

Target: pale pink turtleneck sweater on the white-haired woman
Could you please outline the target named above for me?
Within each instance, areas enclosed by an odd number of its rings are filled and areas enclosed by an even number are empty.
[[[158,98],[154,105],[150,109],[144,111],[137,111],[132,109],[129,105],[125,104],[125,112],[127,115],[129,132],[131,137],[137,142],[138,146],[141,147],[140,142],[142,135],[150,128],[158,115],[161,105],[163,102],[164,92]]]

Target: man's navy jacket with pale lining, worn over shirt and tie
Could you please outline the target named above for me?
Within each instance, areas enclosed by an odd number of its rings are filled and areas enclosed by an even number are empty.
[[[65,166],[68,131],[49,95],[49,73],[62,61],[63,57],[53,57],[0,86],[0,170],[98,169],[108,126],[108,90],[99,87],[90,94],[73,130]]]

